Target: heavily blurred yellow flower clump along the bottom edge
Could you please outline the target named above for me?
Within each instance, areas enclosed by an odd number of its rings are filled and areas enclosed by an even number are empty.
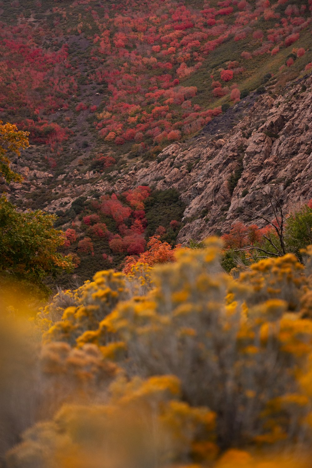
[[[203,443],[215,457],[215,415],[179,400],[174,376],[117,379],[105,405],[64,406],[51,422],[26,431],[7,453],[12,467],[156,467],[202,458]]]

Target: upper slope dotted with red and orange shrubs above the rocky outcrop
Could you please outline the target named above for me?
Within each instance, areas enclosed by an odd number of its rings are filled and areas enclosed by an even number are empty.
[[[52,169],[90,154],[113,170],[109,149],[153,157],[272,75],[280,91],[311,68],[307,1],[2,3],[0,111]]]

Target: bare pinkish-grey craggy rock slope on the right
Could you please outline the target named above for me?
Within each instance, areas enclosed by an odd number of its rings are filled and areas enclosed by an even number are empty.
[[[237,220],[261,225],[257,213],[268,212],[262,190],[269,185],[278,186],[286,210],[312,197],[311,84],[310,75],[283,96],[259,96],[222,138],[220,130],[211,135],[208,124],[190,146],[168,146],[159,156],[162,161],[126,176],[124,183],[134,177],[138,184],[159,179],[158,190],[174,187],[181,192],[187,204],[186,224],[178,237],[182,242],[226,232]],[[219,125],[222,128],[221,121]],[[121,186],[116,184],[116,189]],[[244,208],[254,211],[253,219]]]

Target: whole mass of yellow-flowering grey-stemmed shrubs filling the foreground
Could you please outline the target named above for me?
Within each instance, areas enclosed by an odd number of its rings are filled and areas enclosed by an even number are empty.
[[[221,250],[211,238],[175,263],[99,272],[38,314],[44,393],[52,382],[63,396],[9,468],[309,466],[309,259],[263,260],[235,279]]]

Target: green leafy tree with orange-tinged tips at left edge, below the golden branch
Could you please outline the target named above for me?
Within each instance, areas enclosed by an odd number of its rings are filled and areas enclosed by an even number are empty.
[[[20,213],[7,198],[0,197],[0,273],[42,285],[43,279],[71,271],[71,256],[62,256],[62,231],[53,228],[56,216],[41,210]]]

